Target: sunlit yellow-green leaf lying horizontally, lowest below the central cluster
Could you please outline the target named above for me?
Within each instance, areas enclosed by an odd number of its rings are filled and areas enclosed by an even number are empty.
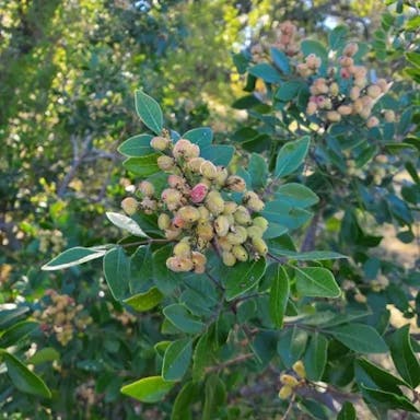
[[[121,393],[142,402],[158,402],[173,388],[175,382],[149,376],[122,386]]]

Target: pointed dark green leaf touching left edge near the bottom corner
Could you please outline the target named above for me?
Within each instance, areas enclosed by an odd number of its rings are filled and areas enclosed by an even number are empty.
[[[13,385],[22,393],[36,395],[43,398],[51,398],[51,392],[45,385],[44,381],[35,373],[31,372],[19,359],[4,350],[0,350],[8,375]]]

